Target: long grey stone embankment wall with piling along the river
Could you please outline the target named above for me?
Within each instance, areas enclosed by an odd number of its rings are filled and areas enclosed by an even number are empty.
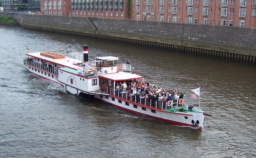
[[[256,28],[8,13],[20,26],[256,64]]]

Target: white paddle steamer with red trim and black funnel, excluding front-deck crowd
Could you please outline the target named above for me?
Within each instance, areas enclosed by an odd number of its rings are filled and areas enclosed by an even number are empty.
[[[147,96],[136,97],[126,91],[113,88],[117,82],[127,83],[143,76],[132,71],[130,64],[118,65],[118,57],[95,57],[88,61],[88,46],[84,45],[83,60],[77,60],[52,52],[27,53],[24,59],[28,71],[44,79],[64,86],[66,91],[88,101],[100,100],[137,114],[153,117],[181,126],[202,129],[204,111],[171,102],[161,102]]]

